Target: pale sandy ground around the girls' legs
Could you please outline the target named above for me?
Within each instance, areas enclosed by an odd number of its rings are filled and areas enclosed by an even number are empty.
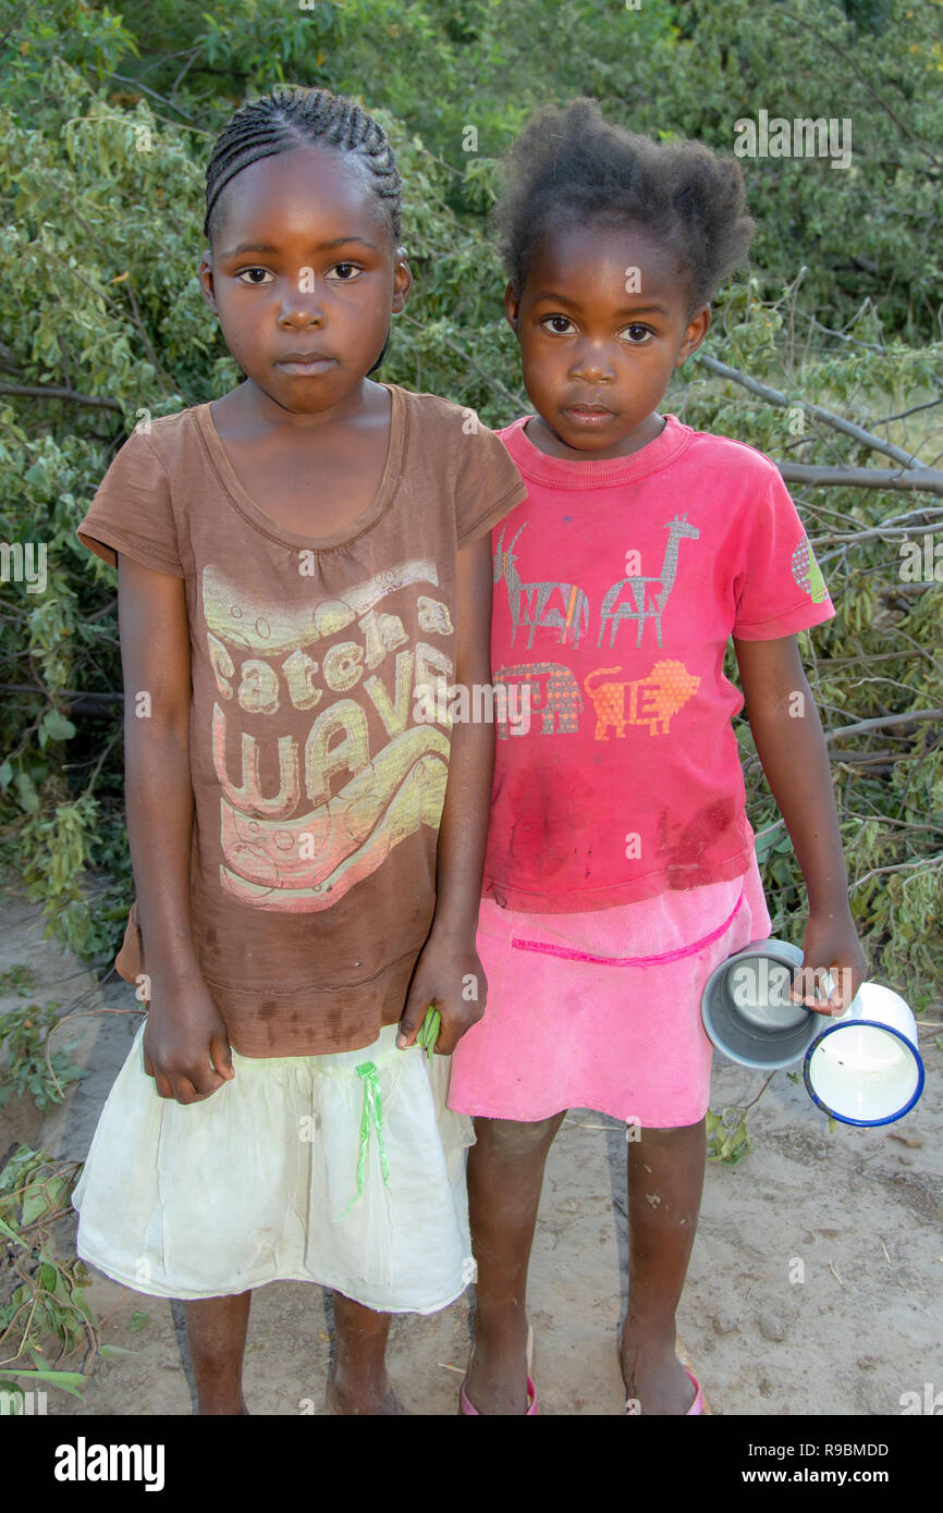
[[[36,906],[8,896],[3,914],[0,973],[30,964],[39,1003],[68,1003],[88,986],[80,964],[42,941]],[[3,997],[0,1012],[23,1002]],[[133,1008],[133,990],[110,982],[83,1005],[95,1006]],[[943,1018],[938,1005],[931,1017]],[[86,1154],[138,1023],[112,1014],[77,1020],[86,1079],[45,1118],[11,1100],[0,1111],[0,1160],[20,1141],[64,1159]],[[736,1167],[708,1163],[678,1324],[716,1415],[898,1415],[902,1393],[923,1398],[926,1383],[943,1389],[941,1044],[938,1030],[922,1032],[928,1086],[899,1124],[829,1133],[804,1088],[778,1073],[749,1115],[752,1153]],[[748,1101],[761,1080],[717,1056],[711,1106]],[[622,1412],[625,1151],[624,1126],[572,1111],[549,1156],[530,1285],[540,1413]],[[64,1223],[61,1251],[73,1239],[74,1224]],[[48,1413],[189,1415],[180,1306],[103,1277],[91,1300],[106,1318],[103,1339],[136,1354],[100,1362],[80,1403],[51,1392]],[[466,1294],[442,1313],[394,1321],[389,1366],[410,1412],[456,1412],[471,1303]],[[135,1312],[148,1316],[138,1333],[127,1327]],[[328,1351],[328,1295],[304,1283],[256,1292],[250,1410],[324,1413]]]

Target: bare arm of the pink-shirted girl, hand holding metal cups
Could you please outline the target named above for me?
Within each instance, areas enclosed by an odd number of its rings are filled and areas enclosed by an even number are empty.
[[[848,1008],[866,962],[848,902],[848,875],[819,711],[795,635],[734,640],[746,717],[763,772],[786,820],[808,896],[805,962],[833,971],[834,1009]],[[822,1008],[807,994],[808,1008]],[[828,1012],[828,1008],[825,1008]]]

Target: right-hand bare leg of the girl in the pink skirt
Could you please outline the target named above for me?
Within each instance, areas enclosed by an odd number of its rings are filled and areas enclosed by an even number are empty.
[[[675,1309],[684,1288],[704,1186],[705,1130],[643,1129],[628,1144],[628,1315],[622,1328],[627,1396],[642,1413],[686,1413],[693,1387],[675,1356]]]

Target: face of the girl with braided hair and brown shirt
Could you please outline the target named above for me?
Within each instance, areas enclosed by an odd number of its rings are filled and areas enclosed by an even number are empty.
[[[250,163],[221,210],[200,284],[226,345],[280,409],[330,410],[369,372],[412,287],[384,210],[350,159],[316,147]]]

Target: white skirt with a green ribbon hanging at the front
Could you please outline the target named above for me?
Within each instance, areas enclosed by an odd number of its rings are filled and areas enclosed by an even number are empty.
[[[474,1277],[472,1121],[447,1108],[451,1058],[398,1050],[397,1024],[330,1056],[233,1052],[201,1103],[162,1098],[144,1024],[73,1195],[77,1250],[156,1297],[316,1282],[383,1313],[433,1313]]]

